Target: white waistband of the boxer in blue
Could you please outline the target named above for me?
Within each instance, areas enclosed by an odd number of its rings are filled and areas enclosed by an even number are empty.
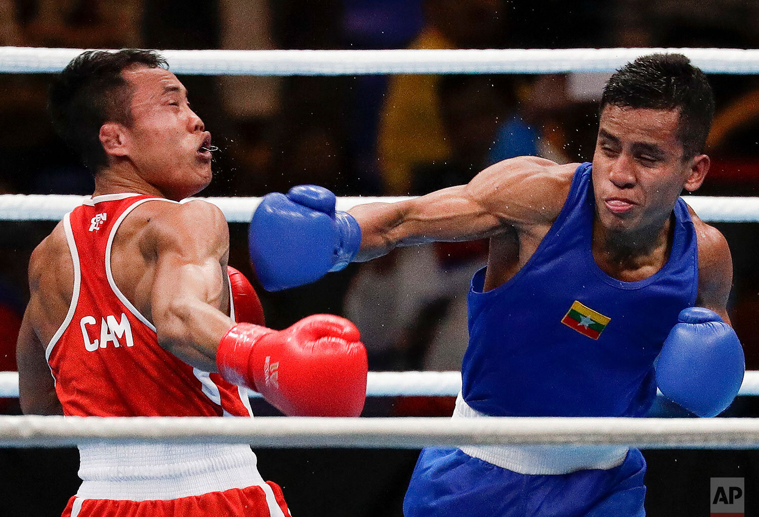
[[[453,418],[487,417],[456,398]],[[622,465],[628,448],[619,446],[464,446],[461,451],[519,474],[569,474],[587,468]]]

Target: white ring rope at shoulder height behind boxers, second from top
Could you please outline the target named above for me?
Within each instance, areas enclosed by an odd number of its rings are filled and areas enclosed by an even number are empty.
[[[59,221],[89,196],[2,194],[0,221]],[[250,222],[260,197],[200,197],[222,210],[228,222]],[[364,203],[395,203],[410,197],[339,197],[338,210]],[[759,222],[759,197],[683,197],[707,222]]]

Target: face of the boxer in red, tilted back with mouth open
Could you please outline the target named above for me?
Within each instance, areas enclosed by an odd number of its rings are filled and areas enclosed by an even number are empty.
[[[168,197],[197,194],[211,181],[211,135],[190,109],[187,90],[163,68],[137,67],[122,72],[134,87],[133,123],[125,128],[128,158],[143,179]]]

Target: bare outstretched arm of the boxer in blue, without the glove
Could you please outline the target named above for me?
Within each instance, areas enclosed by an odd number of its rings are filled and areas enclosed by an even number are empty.
[[[396,246],[471,241],[497,235],[505,226],[550,224],[576,167],[521,156],[488,167],[465,185],[398,203],[354,206],[349,213],[362,235],[354,260],[370,260]]]

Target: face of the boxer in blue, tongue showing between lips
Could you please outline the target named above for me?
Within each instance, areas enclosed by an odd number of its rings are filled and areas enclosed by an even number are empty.
[[[683,159],[679,110],[606,106],[593,156],[597,217],[610,232],[657,231],[682,189],[701,186],[709,158]]]

